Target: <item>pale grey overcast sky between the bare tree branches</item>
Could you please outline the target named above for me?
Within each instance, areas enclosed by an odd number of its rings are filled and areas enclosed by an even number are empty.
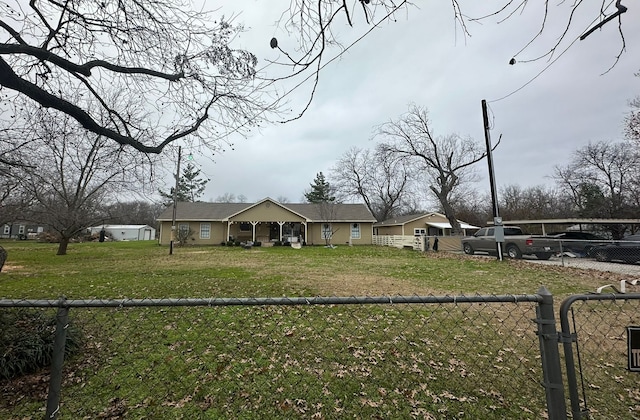
[[[568,163],[577,148],[590,141],[623,138],[628,100],[640,94],[640,77],[634,77],[640,71],[636,4],[628,5],[622,15],[626,51],[607,72],[622,43],[617,20],[570,45],[597,17],[600,2],[590,2],[596,9],[574,19],[575,29],[558,48],[556,61],[525,63],[553,46],[564,30],[571,2],[550,6],[544,36],[520,53],[513,66],[508,64],[511,57],[539,29],[543,10],[535,9],[537,2],[499,24],[495,20],[471,24],[472,36],[466,39],[454,23],[450,2],[416,3],[420,8],[399,13],[396,22],[382,24],[321,72],[315,99],[301,119],[234,139],[235,150],[215,160],[195,153],[194,162],[211,179],[201,198],[212,201],[233,193],[250,202],[265,197],[299,202],[316,173],[329,175],[351,147],[373,148],[375,127],[398,118],[409,103],[429,109],[436,134],[458,133],[484,144],[481,100],[486,99],[492,140],[502,135],[494,152],[498,187],[551,185],[553,167]],[[460,2],[463,11],[473,16],[490,12],[488,4],[497,4],[474,3]],[[272,36],[278,37],[282,49],[295,52],[295,39],[274,25],[289,1],[218,4],[220,14],[235,14],[235,21],[246,26],[236,46],[256,54],[259,66],[283,58],[269,48]],[[369,29],[359,14],[354,25],[344,28],[345,41]],[[338,52],[330,51],[331,56]],[[307,100],[310,87],[304,85],[291,95],[294,110]],[[486,161],[477,169],[481,180],[476,187],[488,191]]]

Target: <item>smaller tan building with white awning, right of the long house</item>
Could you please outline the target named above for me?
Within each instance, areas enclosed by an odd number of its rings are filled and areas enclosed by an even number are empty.
[[[480,229],[466,222],[460,221],[463,235],[467,230]],[[444,214],[420,213],[393,217],[373,225],[375,235],[403,235],[403,236],[451,236],[451,223]]]

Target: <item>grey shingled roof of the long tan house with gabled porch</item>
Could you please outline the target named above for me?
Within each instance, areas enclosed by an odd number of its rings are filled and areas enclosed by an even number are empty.
[[[211,221],[222,222],[229,217],[241,214],[265,201],[287,209],[309,222],[375,222],[376,219],[364,204],[330,204],[327,210],[326,204],[312,203],[278,203],[266,198],[257,203],[188,203],[179,202],[176,206],[176,220],[182,221]],[[324,206],[324,207],[323,207]],[[324,210],[324,211],[323,211]],[[323,216],[324,214],[324,216]],[[158,221],[173,220],[173,206],[167,207],[158,216]]]

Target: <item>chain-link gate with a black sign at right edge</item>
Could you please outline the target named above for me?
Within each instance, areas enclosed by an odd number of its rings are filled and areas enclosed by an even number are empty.
[[[574,419],[640,417],[640,294],[586,294],[560,307]]]

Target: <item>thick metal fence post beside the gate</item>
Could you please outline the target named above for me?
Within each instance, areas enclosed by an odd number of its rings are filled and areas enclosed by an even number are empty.
[[[553,308],[551,292],[542,286],[538,290],[542,301],[536,312],[538,318],[538,337],[540,339],[540,356],[542,359],[543,385],[547,397],[549,419],[566,419],[567,406],[564,399],[564,385],[560,368],[560,350],[558,348],[558,331]]]

